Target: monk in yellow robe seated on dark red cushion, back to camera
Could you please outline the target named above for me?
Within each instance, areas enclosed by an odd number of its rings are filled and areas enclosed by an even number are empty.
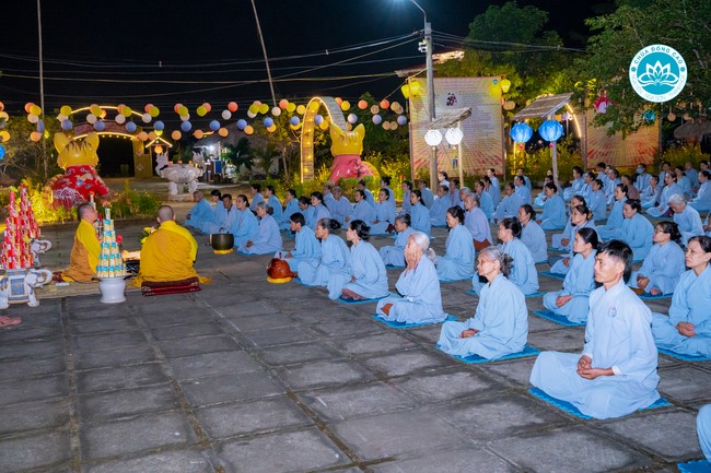
[[[199,291],[200,277],[193,269],[198,256],[198,244],[190,232],[175,223],[170,205],[158,210],[160,227],[149,235],[141,250],[141,268],[133,283],[144,295]],[[150,294],[149,294],[150,293]]]

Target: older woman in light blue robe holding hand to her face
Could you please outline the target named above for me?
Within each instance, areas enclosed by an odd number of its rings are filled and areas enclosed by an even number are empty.
[[[405,247],[407,268],[395,288],[400,297],[386,297],[377,303],[376,312],[385,320],[401,323],[438,323],[446,319],[436,269],[431,259],[430,238],[412,232]]]

